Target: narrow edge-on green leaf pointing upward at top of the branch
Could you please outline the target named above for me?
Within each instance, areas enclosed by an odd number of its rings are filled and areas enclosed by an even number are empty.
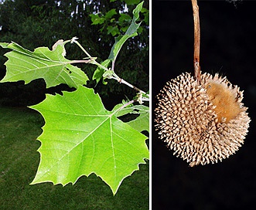
[[[108,59],[115,60],[118,56],[118,52],[120,51],[121,47],[125,43],[125,41],[131,37],[137,36],[137,30],[141,23],[136,23],[139,18],[139,12],[142,10],[143,2],[139,3],[136,8],[133,10],[133,19],[131,21],[131,25],[128,27],[125,35],[118,36],[115,39],[114,46],[112,46],[111,53],[108,56]]]

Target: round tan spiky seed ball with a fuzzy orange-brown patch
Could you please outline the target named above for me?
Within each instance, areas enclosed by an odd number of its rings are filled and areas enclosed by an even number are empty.
[[[222,161],[244,143],[250,117],[243,92],[209,73],[198,83],[189,73],[169,81],[157,96],[160,138],[190,166]]]

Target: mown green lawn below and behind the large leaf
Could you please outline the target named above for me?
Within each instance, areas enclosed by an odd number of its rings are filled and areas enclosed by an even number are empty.
[[[96,175],[75,185],[29,185],[36,175],[43,118],[27,108],[0,107],[0,209],[148,209],[148,164],[125,178],[113,196]]]

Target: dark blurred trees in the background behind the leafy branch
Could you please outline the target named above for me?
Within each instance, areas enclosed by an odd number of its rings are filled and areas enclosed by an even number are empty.
[[[26,49],[33,50],[39,46],[51,46],[59,39],[79,38],[91,56],[98,61],[108,59],[114,36],[125,33],[131,22],[132,9],[140,0],[5,0],[0,4],[0,42],[17,42]],[[118,76],[128,80],[140,89],[148,90],[149,69],[149,1],[144,2],[141,27],[138,36],[129,39],[121,49],[115,69]],[[67,45],[68,59],[82,59],[83,52],[75,45]],[[0,49],[0,79],[5,76],[3,56],[7,52]],[[80,66],[91,78],[95,66]],[[135,91],[116,81],[108,81],[110,85],[90,81],[88,86],[95,87],[101,94],[105,105],[120,102],[125,97],[131,99]],[[46,90],[43,80],[36,80],[28,85],[17,83],[0,83],[0,104],[7,106],[26,106],[39,103],[45,93],[60,93],[68,90],[67,86],[59,86]],[[112,95],[115,95],[114,100]],[[109,100],[111,98],[111,100]]]

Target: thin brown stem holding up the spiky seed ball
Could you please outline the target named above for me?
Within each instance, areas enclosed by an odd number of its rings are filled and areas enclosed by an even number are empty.
[[[199,8],[197,0],[191,0],[193,7],[193,19],[194,19],[194,69],[196,80],[200,83],[200,20],[199,20]]]

